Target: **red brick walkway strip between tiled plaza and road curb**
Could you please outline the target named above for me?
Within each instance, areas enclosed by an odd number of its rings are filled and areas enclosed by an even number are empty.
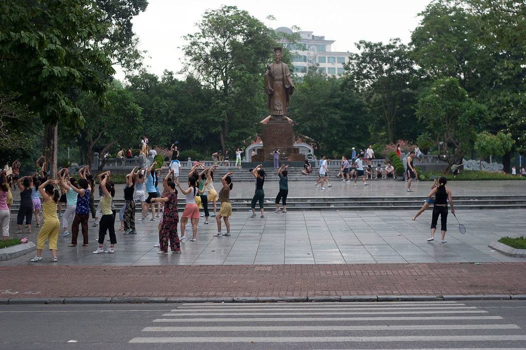
[[[0,298],[526,294],[526,263],[0,267]]]

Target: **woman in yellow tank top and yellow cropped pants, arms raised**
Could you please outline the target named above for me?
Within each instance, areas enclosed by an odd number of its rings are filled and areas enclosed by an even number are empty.
[[[42,249],[46,238],[48,239],[49,250],[53,255],[53,262],[57,261],[57,238],[60,223],[57,216],[57,203],[60,195],[54,185],[58,184],[58,180],[47,180],[38,187],[42,198],[44,198],[44,205],[42,210],[44,212],[44,225],[38,232],[36,239],[36,256],[31,259],[33,262],[42,260]]]

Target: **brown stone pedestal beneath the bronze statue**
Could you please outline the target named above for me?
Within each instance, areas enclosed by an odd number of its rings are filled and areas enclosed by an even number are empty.
[[[294,131],[292,124],[287,120],[268,120],[263,124],[261,135],[263,149],[258,154],[252,156],[252,162],[272,162],[274,149],[280,150],[280,161],[303,162],[305,155],[299,153],[299,149],[294,147]]]

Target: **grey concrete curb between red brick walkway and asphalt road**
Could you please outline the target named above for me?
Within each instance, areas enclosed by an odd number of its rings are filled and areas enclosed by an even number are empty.
[[[488,295],[343,295],[343,296],[250,296],[231,298],[0,298],[0,305],[39,304],[183,304],[183,303],[298,303],[298,302],[404,302],[463,300],[526,300],[526,294]]]

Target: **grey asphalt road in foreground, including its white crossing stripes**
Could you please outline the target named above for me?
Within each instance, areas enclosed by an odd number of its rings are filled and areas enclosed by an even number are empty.
[[[526,346],[526,301],[0,305],[3,349]]]

